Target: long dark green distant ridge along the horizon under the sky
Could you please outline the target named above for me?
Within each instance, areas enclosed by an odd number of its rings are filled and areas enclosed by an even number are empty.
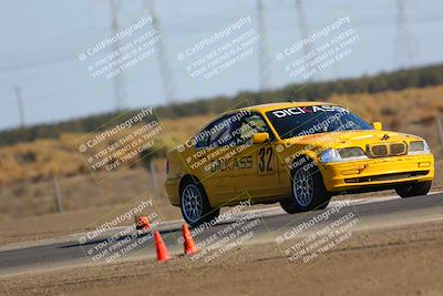
[[[443,84],[443,64],[363,75],[357,79],[316,82],[311,84],[290,84],[282,89],[266,92],[240,92],[235,96],[215,96],[188,103],[156,108],[161,119],[219,113],[237,104],[258,104],[276,101],[312,101],[327,99],[333,94],[378,93],[387,90],[399,91],[408,88],[424,88]],[[136,111],[134,111],[136,112]],[[23,130],[11,129],[0,132],[0,145],[30,142],[40,139],[58,139],[61,133],[87,133],[120,113],[111,112],[90,115],[58,123],[39,124]]]

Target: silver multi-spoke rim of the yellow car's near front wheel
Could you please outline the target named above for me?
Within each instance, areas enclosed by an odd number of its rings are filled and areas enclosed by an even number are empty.
[[[308,206],[313,198],[313,180],[309,171],[298,169],[292,178],[292,192],[301,206]]]

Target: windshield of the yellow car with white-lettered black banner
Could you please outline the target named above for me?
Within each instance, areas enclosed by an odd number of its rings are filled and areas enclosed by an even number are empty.
[[[313,105],[274,110],[266,113],[281,139],[373,127],[342,106]]]

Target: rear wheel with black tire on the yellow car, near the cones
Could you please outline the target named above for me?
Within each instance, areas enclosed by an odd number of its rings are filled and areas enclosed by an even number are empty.
[[[190,196],[192,193],[194,196]],[[182,216],[189,226],[195,227],[218,217],[220,208],[210,206],[202,183],[187,178],[181,186],[179,194]]]

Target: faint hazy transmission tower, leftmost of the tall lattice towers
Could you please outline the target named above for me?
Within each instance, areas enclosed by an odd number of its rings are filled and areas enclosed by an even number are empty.
[[[112,31],[115,35],[120,30],[120,21],[119,21],[119,0],[110,0],[111,1],[111,18],[112,18]],[[113,52],[120,51],[120,40],[113,43]],[[122,110],[126,106],[126,91],[125,91],[125,79],[123,73],[117,73],[113,78],[114,81],[114,100],[115,100],[115,110]]]

